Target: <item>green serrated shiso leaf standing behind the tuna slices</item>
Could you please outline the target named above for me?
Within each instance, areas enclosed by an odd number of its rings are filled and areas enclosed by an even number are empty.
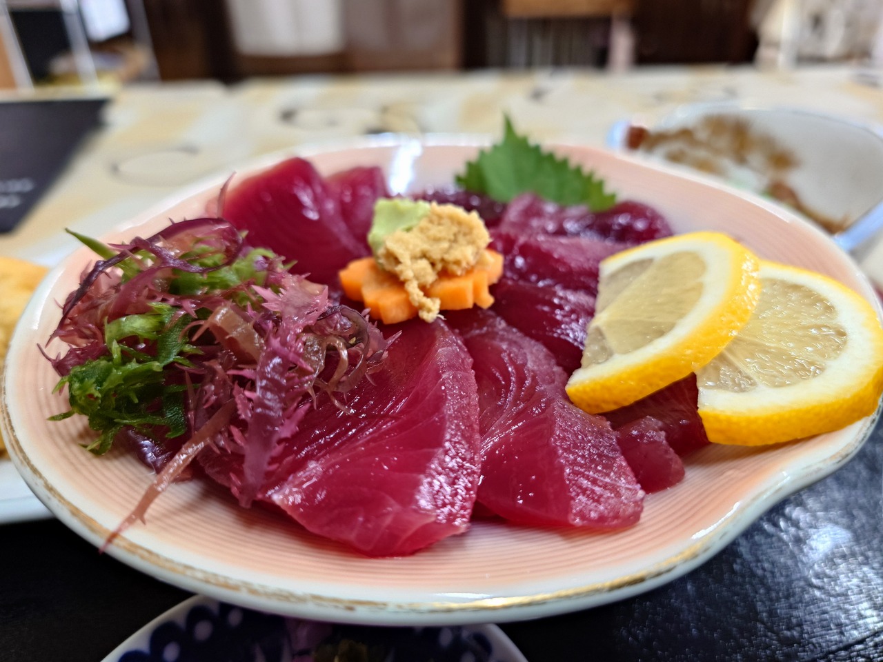
[[[484,193],[500,202],[509,202],[520,193],[534,192],[540,198],[560,205],[585,205],[593,212],[613,207],[616,195],[604,189],[604,181],[592,171],[584,172],[532,145],[520,136],[505,117],[502,141],[481,150],[475,161],[467,162],[457,184],[466,191]]]

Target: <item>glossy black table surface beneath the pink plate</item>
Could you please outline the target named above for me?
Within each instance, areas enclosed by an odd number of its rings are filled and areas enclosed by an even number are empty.
[[[188,596],[55,520],[0,527],[2,662],[98,662]],[[690,574],[502,628],[530,662],[883,660],[883,425]]]

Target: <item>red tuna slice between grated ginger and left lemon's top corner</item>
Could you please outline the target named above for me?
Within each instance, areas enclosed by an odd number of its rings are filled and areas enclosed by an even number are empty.
[[[492,232],[491,247],[505,258],[503,274],[516,281],[598,293],[601,260],[628,248],[628,244],[591,237],[515,235]]]

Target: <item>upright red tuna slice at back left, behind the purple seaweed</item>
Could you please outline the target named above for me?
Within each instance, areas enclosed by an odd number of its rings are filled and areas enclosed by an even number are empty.
[[[326,181],[304,159],[289,159],[236,184],[223,202],[223,216],[248,231],[248,243],[288,260],[310,280],[336,284],[337,272],[365,254],[343,222]]]

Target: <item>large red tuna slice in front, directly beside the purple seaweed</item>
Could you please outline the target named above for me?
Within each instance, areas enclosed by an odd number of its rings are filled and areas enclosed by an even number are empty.
[[[441,321],[401,330],[383,369],[347,394],[351,413],[325,396],[306,413],[258,497],[370,556],[413,553],[464,532],[478,489],[469,353]],[[235,456],[203,455],[208,474],[235,492]]]

